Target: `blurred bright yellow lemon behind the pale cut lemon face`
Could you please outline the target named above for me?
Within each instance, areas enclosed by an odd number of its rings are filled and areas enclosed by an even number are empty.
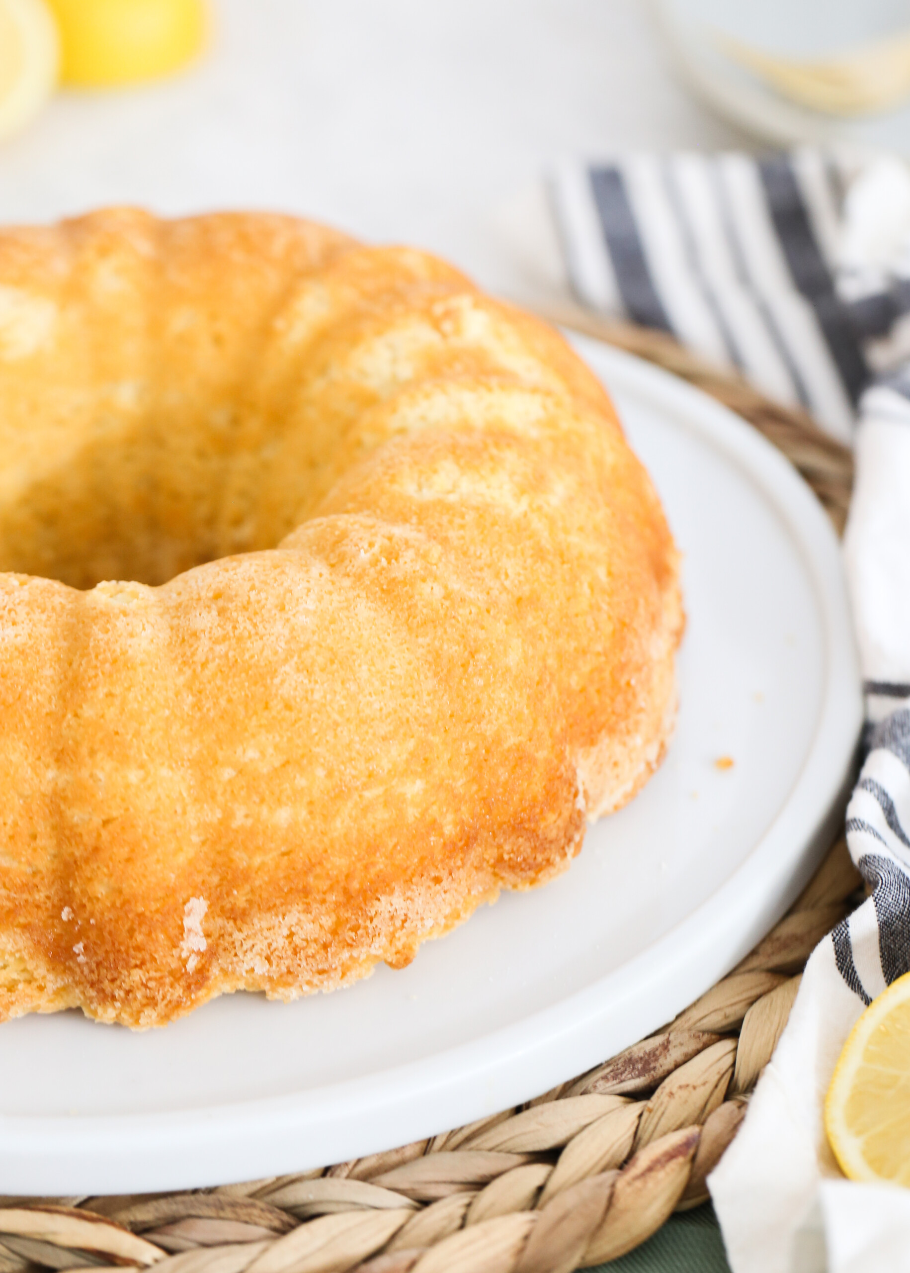
[[[202,46],[204,0],[48,0],[60,27],[62,80],[132,84],[177,70]]]

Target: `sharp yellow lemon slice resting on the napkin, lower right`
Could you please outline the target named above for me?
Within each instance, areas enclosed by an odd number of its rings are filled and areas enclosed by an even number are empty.
[[[910,1185],[910,973],[853,1027],[825,1101],[825,1130],[851,1180]]]

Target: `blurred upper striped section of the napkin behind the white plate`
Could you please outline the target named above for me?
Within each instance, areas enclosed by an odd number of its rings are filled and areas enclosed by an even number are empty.
[[[739,368],[844,440],[871,377],[910,356],[910,244],[882,260],[882,232],[901,236],[879,216],[871,251],[864,224],[909,191],[897,163],[818,150],[565,163],[551,185],[582,302]]]

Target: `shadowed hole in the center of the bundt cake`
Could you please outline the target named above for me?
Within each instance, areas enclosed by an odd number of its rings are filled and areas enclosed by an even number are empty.
[[[157,586],[205,561],[275,547],[311,503],[305,463],[280,446],[232,449],[230,428],[113,440],[93,432],[95,442],[0,508],[0,570],[74,588]]]

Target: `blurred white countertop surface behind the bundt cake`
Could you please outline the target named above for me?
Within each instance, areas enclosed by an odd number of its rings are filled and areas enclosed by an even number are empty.
[[[60,92],[0,148],[0,219],[106,202],[270,207],[564,288],[541,176],[565,154],[743,139],[672,78],[644,0],[214,0],[171,80]]]

